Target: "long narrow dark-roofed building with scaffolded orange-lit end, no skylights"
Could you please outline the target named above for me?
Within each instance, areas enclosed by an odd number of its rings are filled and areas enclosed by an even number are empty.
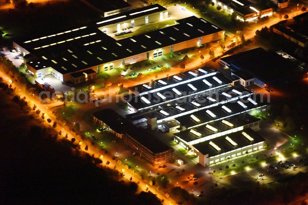
[[[107,128],[107,131],[123,141],[137,156],[139,155],[150,163],[160,164],[175,159],[174,150],[171,147],[144,129],[138,129],[115,111],[104,109],[92,113],[92,116],[94,126]]]

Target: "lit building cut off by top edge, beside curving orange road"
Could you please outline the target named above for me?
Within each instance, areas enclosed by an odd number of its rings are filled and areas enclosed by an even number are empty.
[[[253,21],[258,18],[272,15],[272,8],[264,3],[254,4],[247,0],[213,0],[215,5],[229,13],[235,13],[240,21]]]

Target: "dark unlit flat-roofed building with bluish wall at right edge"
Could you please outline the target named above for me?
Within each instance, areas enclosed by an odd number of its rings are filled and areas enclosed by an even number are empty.
[[[243,86],[254,83],[263,88],[306,77],[308,66],[283,51],[266,51],[263,48],[247,50],[220,58]]]

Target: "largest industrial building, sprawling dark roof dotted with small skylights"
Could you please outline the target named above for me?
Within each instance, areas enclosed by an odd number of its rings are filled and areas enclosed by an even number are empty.
[[[154,4],[108,16],[88,26],[13,43],[24,56],[30,74],[37,78],[53,75],[61,82],[78,83],[89,80],[86,70],[99,73],[224,38],[224,30],[195,16],[130,38],[111,37],[167,16],[166,8]]]

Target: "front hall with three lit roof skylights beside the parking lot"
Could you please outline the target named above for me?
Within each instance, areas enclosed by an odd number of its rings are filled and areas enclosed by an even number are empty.
[[[194,154],[202,166],[233,160],[264,148],[265,139],[246,128],[194,145]]]

